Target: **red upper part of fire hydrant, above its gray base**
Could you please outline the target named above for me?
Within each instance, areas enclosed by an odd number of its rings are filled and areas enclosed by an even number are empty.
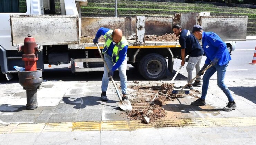
[[[41,46],[37,45],[35,38],[27,35],[24,39],[24,45],[18,45],[18,51],[23,51],[22,60],[25,61],[25,71],[36,71],[36,61],[38,55],[36,52],[41,51]]]

